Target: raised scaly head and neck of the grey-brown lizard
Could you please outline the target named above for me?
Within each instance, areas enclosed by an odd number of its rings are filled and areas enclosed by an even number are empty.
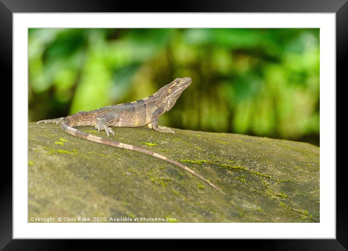
[[[165,85],[157,92],[161,95],[161,100],[166,104],[166,110],[170,110],[181,93],[192,83],[190,77],[175,78],[174,81]]]

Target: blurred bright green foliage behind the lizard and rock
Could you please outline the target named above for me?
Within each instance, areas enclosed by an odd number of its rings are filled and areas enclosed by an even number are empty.
[[[319,29],[29,29],[29,121],[191,77],[160,124],[319,144]]]

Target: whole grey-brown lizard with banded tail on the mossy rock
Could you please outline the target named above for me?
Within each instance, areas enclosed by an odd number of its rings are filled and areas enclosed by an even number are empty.
[[[75,126],[94,126],[98,130],[98,133],[100,130],[104,130],[106,132],[107,137],[109,137],[110,133],[112,135],[115,134],[110,126],[138,127],[147,125],[148,127],[158,132],[175,133],[172,129],[168,127],[158,125],[158,117],[166,111],[169,111],[171,108],[173,108],[175,102],[177,101],[181,93],[191,84],[191,82],[192,79],[190,77],[176,78],[171,83],[157,90],[153,95],[137,101],[113,106],[106,106],[91,111],[79,111],[67,117],[40,120],[37,122],[37,124],[59,124],[60,128],[64,132],[72,136],[76,136],[96,143],[102,143],[152,155],[163,161],[173,163],[174,165],[188,171],[197,178],[204,180],[211,187],[217,189],[220,192],[223,192],[220,188],[211,183],[208,179],[204,178],[200,174],[193,171],[191,168],[185,166],[184,164],[178,161],[174,161],[156,152],[146,150],[138,146],[105,139],[92,134],[87,134],[83,131],[74,128]]]

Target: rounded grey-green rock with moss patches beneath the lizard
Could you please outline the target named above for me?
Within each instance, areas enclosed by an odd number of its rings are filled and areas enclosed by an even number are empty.
[[[96,133],[90,126],[78,128]],[[109,139],[181,161],[224,193],[153,156],[79,139],[59,125],[29,123],[28,221],[157,217],[176,222],[319,222],[318,147],[174,130],[163,134],[147,127],[114,128]],[[98,135],[106,138],[105,132]]]

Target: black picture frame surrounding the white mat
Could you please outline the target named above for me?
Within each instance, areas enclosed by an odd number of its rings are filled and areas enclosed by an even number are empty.
[[[173,2],[172,2],[173,3]],[[336,13],[336,81],[347,83],[344,67],[348,58],[348,3],[347,0],[209,0],[175,1],[161,5],[149,1],[117,0],[0,0],[0,69],[3,83],[12,83],[12,20],[14,13],[41,12],[281,12],[281,13]],[[159,7],[159,8],[158,8]],[[156,11],[155,11],[156,10]],[[5,77],[5,78],[4,78]],[[335,83],[332,83],[335,84]],[[8,85],[10,86],[10,85]],[[336,84],[337,86],[337,84]],[[9,109],[8,104],[3,108]],[[25,125],[23,125],[25,126]],[[7,128],[8,129],[8,128]],[[13,132],[14,133],[14,132]],[[15,149],[12,149],[15,151]],[[343,166],[341,166],[343,167]],[[347,250],[347,200],[344,168],[336,169],[336,239],[238,240],[243,247],[257,245],[265,250]],[[0,249],[2,250],[65,250],[72,240],[12,239],[12,170],[1,170]],[[237,241],[237,240],[236,240]],[[90,241],[79,241],[79,245]],[[149,245],[149,244],[148,244]],[[170,249],[180,248],[180,241],[171,241]],[[201,245],[205,245],[201,242]],[[81,248],[81,246],[79,246]],[[98,249],[101,246],[98,245]],[[146,244],[142,244],[142,248]],[[153,248],[153,244],[149,247]]]

